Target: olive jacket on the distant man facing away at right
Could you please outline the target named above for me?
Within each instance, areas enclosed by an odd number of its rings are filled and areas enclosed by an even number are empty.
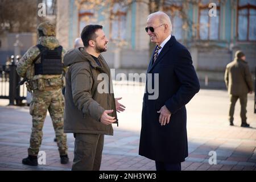
[[[225,84],[228,93],[242,96],[253,91],[253,79],[246,61],[234,59],[226,66]]]

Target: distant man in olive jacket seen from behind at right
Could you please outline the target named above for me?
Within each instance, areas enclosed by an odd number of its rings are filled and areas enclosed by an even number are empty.
[[[242,127],[250,127],[246,122],[247,94],[253,92],[253,80],[245,54],[242,51],[236,52],[234,61],[226,66],[225,83],[230,94],[229,122],[233,126],[234,107],[239,98],[241,104]]]

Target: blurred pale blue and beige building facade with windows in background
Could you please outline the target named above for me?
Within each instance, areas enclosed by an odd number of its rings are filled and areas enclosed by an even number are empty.
[[[88,2],[57,0],[56,27],[60,44],[71,49],[86,24],[102,24],[109,38],[104,57],[110,67],[125,73],[144,72],[151,55],[150,38],[144,30],[150,14],[149,0],[131,1],[129,5],[121,1],[95,1],[101,2],[97,7]],[[255,0],[162,0],[159,10],[170,16],[172,35],[191,52],[200,80],[207,77],[223,81],[225,66],[238,49],[245,52],[251,72],[255,72]],[[7,50],[5,42],[9,41],[5,39],[2,49]],[[31,42],[35,42],[34,39]]]

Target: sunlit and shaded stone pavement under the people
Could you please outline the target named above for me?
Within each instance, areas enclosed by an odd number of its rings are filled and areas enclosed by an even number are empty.
[[[144,86],[115,85],[115,96],[123,97],[125,113],[118,114],[119,127],[114,136],[105,137],[101,170],[155,170],[154,161],[138,155],[139,131]],[[229,126],[229,97],[225,90],[200,90],[187,105],[189,156],[181,164],[183,170],[255,170],[256,114],[252,94],[247,104],[251,128],[240,127],[239,102],[235,111],[235,126]],[[60,164],[54,130],[49,115],[43,128],[41,151],[46,152],[46,165],[29,167],[21,163],[27,156],[31,132],[31,116],[27,106],[6,106],[0,100],[0,170],[70,170],[74,139],[68,134],[69,164]],[[210,151],[217,154],[217,164],[210,165]]]

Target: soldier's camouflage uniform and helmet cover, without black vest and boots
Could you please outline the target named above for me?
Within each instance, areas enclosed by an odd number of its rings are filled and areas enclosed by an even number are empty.
[[[41,29],[40,29],[41,28]],[[44,35],[40,36],[38,44],[48,49],[59,47],[59,42],[55,38],[55,30],[47,22],[39,25],[38,30],[42,30]],[[67,67],[63,68],[63,75],[35,75],[33,61],[39,55],[40,50],[34,46],[28,49],[20,59],[17,72],[18,75],[26,77],[29,81],[28,89],[33,91],[30,104],[30,114],[32,115],[32,133],[30,137],[30,148],[28,155],[38,155],[43,137],[43,123],[47,110],[51,116],[57,146],[60,155],[67,155],[67,135],[63,133],[64,98],[61,88],[64,86],[64,73]],[[61,61],[63,63],[65,50],[62,50]],[[34,63],[40,63],[40,57]]]

